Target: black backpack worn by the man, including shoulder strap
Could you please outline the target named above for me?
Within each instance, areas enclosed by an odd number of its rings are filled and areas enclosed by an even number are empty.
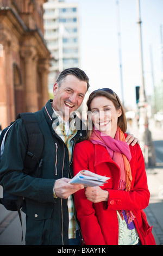
[[[37,123],[35,114],[33,113],[20,113],[17,115],[17,119],[21,118],[26,127],[27,136],[28,136],[28,150],[26,154],[26,158],[24,160],[24,170],[23,172],[26,174],[32,174],[34,170],[36,173],[39,173],[39,170],[42,166],[42,151],[43,151],[43,134],[40,130],[39,124]],[[10,126],[6,127],[0,135],[0,161],[4,151],[5,141],[7,139],[8,133],[10,131],[11,126],[14,124],[12,122]],[[7,210],[10,211],[18,211],[18,215],[20,217],[21,225],[21,212],[20,209],[23,205],[23,198],[15,196],[13,194],[9,194],[5,190],[3,190],[3,198],[0,198],[0,203],[4,205]],[[22,236],[23,239],[23,236]]]

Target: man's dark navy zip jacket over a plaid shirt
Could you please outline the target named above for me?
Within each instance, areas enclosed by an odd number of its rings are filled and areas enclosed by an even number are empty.
[[[68,173],[73,176],[72,161],[69,163],[68,149],[52,129],[56,118],[53,118],[50,100],[35,115],[45,141],[39,177],[36,172],[31,176],[23,173],[28,142],[23,122],[18,119],[5,143],[0,182],[9,193],[25,198],[22,211],[26,213],[26,245],[68,245],[67,199],[54,199],[53,186],[56,179],[68,178]],[[82,121],[74,118],[78,123],[78,132],[73,138],[75,145],[86,131]],[[79,126],[83,129],[79,130]]]

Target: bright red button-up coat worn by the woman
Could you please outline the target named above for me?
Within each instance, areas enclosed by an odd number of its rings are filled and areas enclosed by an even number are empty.
[[[149,227],[145,209],[150,193],[147,186],[145,162],[140,146],[129,146],[133,181],[131,191],[120,191],[120,168],[111,159],[102,145],[83,141],[76,145],[73,157],[73,170],[76,175],[80,170],[105,175],[111,179],[102,186],[109,192],[108,202],[92,203],[86,199],[84,190],[75,193],[77,217],[81,224],[86,245],[118,245],[118,218],[116,210],[133,211],[135,228],[142,245],[155,245],[152,227]]]

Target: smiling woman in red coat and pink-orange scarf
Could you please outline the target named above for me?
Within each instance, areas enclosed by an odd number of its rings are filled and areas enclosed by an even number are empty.
[[[155,245],[142,210],[150,197],[145,162],[140,146],[125,142],[122,103],[116,93],[104,88],[90,94],[87,107],[87,139],[74,149],[74,175],[87,169],[110,179],[102,187],[75,193],[85,244]]]

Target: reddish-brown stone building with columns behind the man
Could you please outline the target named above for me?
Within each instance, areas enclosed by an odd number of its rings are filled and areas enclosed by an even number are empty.
[[[41,109],[48,95],[51,53],[43,38],[47,0],[0,0],[0,123]]]

